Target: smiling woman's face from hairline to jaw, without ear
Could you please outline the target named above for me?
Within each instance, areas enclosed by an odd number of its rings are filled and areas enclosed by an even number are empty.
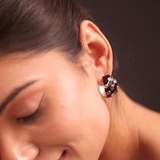
[[[89,76],[60,54],[0,61],[0,159],[97,160],[108,109]]]

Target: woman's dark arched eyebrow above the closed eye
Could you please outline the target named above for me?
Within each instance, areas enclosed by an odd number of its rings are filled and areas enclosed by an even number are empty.
[[[0,115],[2,114],[2,112],[5,110],[5,108],[7,107],[7,105],[25,88],[29,87],[30,85],[34,84],[35,82],[37,82],[37,80],[32,80],[29,81],[27,83],[25,83],[24,85],[17,87],[15,89],[13,89],[13,91],[6,97],[6,99],[1,103],[0,105]]]

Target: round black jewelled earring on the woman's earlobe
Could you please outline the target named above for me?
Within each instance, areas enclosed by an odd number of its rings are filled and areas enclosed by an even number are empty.
[[[113,97],[119,90],[117,80],[110,75],[106,75],[103,77],[103,84],[99,86],[99,89],[104,97]]]

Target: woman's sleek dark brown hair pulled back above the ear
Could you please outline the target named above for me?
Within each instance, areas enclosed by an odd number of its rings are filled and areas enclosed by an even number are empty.
[[[83,20],[91,17],[77,0],[0,0],[0,55],[58,48],[75,60]]]

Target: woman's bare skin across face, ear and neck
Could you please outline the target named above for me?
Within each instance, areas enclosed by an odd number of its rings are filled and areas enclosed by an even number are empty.
[[[0,104],[32,83],[0,114],[0,160],[158,160],[159,114],[122,90],[105,99],[98,86],[112,74],[109,42],[90,21],[81,23],[80,40],[88,76],[56,50],[1,58]]]

